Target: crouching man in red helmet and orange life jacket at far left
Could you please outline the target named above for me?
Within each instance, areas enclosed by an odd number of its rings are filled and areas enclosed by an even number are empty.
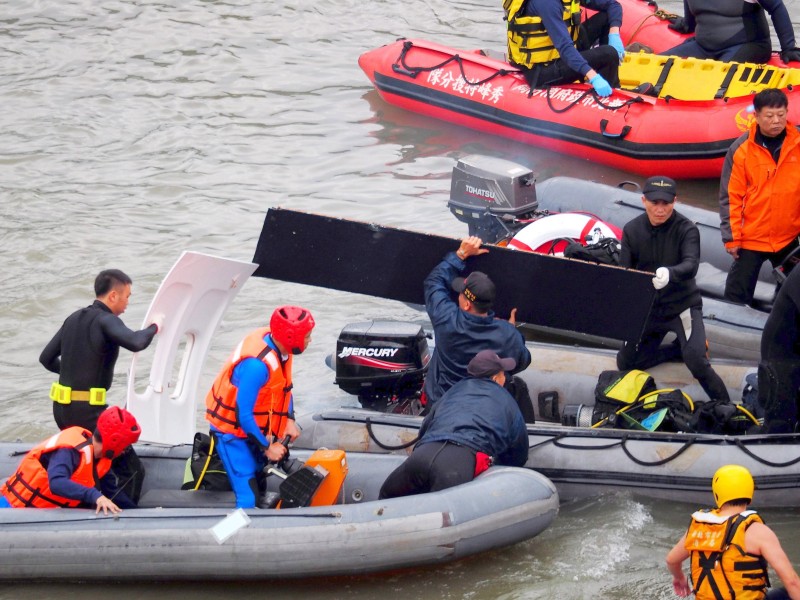
[[[106,475],[141,433],[136,418],[118,406],[100,415],[94,434],[83,427],[62,430],[25,455],[0,488],[0,508],[95,506],[106,515],[120,512],[120,504],[133,508],[127,498],[114,502],[118,492]]]

